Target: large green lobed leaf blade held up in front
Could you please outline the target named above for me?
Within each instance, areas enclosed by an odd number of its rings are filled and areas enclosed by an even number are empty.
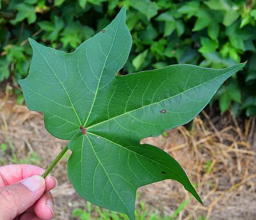
[[[179,64],[116,76],[132,45],[125,8],[73,53],[30,44],[29,76],[20,81],[27,106],[44,113],[52,135],[70,140],[68,175],[84,199],[134,219],[136,190],[173,179],[202,203],[178,162],[140,141],[193,119],[244,63],[222,70]]]

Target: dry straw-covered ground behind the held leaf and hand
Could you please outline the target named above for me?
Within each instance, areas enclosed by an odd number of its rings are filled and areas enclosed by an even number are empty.
[[[192,199],[178,219],[256,219],[255,118],[237,121],[230,113],[209,113],[208,109],[197,116],[190,129],[180,126],[142,142],[172,155],[197,185],[204,206]],[[7,149],[0,150],[0,165],[25,162],[46,168],[67,141],[51,136],[44,127],[43,116],[17,105],[7,90],[0,94],[1,143],[6,143]],[[72,210],[86,203],[68,180],[67,160],[68,156],[52,171],[59,183],[52,190],[54,219],[58,220],[73,219]],[[172,180],[144,186],[138,194],[148,210],[168,215],[190,197],[182,185]]]

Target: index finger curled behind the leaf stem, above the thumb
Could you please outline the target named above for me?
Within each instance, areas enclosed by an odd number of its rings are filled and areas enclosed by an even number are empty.
[[[13,164],[0,167],[0,187],[8,186],[32,175],[41,175],[44,169],[30,164]],[[53,189],[57,181],[51,175],[46,177],[46,191]]]

